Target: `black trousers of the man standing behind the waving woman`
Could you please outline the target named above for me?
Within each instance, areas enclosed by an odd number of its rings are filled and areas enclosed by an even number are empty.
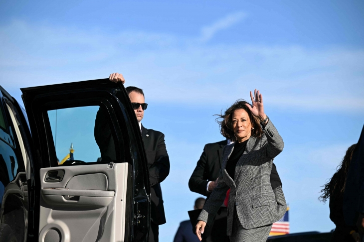
[[[230,242],[229,237],[226,236],[227,228],[227,208],[220,207],[215,220],[211,225],[210,234],[207,238],[203,238],[203,242]]]

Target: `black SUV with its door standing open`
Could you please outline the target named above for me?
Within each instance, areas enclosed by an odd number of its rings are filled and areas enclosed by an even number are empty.
[[[21,91],[26,112],[0,87],[0,242],[148,241],[147,158],[124,86]]]

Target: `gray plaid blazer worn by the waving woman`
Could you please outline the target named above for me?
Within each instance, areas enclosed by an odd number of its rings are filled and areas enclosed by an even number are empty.
[[[227,235],[232,232],[234,205],[244,229],[253,229],[280,220],[287,209],[286,200],[279,186],[272,190],[270,172],[273,159],[283,150],[283,139],[269,120],[260,138],[250,136],[245,151],[235,167],[235,180],[225,167],[234,145],[226,145],[222,152],[222,166],[218,185],[213,189],[197,220],[211,225],[230,188],[227,207]]]

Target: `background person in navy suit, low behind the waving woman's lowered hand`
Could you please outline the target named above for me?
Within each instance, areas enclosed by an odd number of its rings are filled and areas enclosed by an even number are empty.
[[[194,201],[193,209],[202,210],[204,204],[204,198],[197,198],[196,201]],[[197,236],[193,234],[191,221],[186,220],[181,222],[173,242],[199,242]]]

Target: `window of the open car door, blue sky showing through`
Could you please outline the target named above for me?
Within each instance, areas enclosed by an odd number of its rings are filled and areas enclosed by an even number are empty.
[[[58,165],[115,161],[109,117],[99,109],[88,106],[47,111]],[[97,115],[100,121],[95,123]]]

